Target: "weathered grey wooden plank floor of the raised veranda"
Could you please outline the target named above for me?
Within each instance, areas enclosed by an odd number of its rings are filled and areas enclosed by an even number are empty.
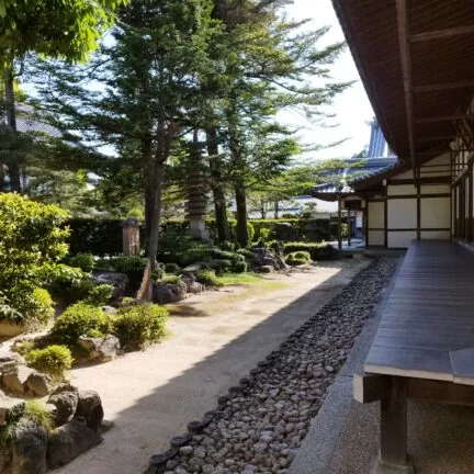
[[[444,240],[410,246],[365,372],[474,385],[474,253]]]

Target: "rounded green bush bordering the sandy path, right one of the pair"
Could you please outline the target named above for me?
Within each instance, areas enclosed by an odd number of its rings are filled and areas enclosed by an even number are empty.
[[[123,306],[114,318],[114,334],[124,349],[143,348],[157,342],[166,332],[168,311],[161,306],[145,304]]]

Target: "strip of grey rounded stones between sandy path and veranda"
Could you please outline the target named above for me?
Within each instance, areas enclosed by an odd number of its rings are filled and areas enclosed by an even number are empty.
[[[396,264],[396,258],[383,257],[362,270],[230,387],[216,410],[190,422],[170,451],[153,456],[147,473],[286,473]]]

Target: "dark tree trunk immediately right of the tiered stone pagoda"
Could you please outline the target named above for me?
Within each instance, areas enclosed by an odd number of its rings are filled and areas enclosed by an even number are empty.
[[[224,178],[218,158],[217,131],[206,131],[207,154],[210,156],[211,189],[214,196],[214,208],[216,216],[217,239],[219,241],[230,240],[230,228],[227,218],[227,204],[224,192]]]

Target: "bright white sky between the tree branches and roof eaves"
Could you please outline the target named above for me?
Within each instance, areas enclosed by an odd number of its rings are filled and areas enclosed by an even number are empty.
[[[294,19],[312,19],[312,29],[330,25],[330,31],[321,42],[330,44],[343,41],[342,30],[330,0],[294,0],[293,5],[287,8],[287,12]],[[335,99],[334,105],[329,109],[329,112],[336,114],[330,123],[336,124],[337,127],[313,125],[296,113],[285,113],[284,119],[281,119],[292,125],[304,125],[306,129],[301,132],[301,136],[306,143],[323,145],[347,138],[337,147],[312,151],[305,158],[347,158],[359,153],[369,144],[369,122],[373,119],[374,113],[349,48],[331,67],[331,76],[336,81],[357,80],[357,83]]]

